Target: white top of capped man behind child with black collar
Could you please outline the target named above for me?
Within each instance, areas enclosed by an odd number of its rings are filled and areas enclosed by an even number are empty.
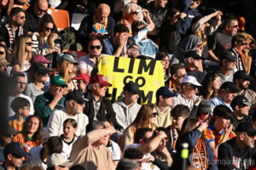
[[[66,109],[56,110],[50,114],[47,125],[47,136],[61,136],[63,133],[63,122],[68,118],[74,119],[78,124],[77,131],[75,133],[76,136],[84,136],[86,133],[85,127],[89,123],[88,117],[83,113],[70,116]]]

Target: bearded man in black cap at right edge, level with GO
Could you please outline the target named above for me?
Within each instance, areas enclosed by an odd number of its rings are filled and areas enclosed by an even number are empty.
[[[253,81],[253,77],[247,75],[246,71],[236,71],[233,77],[233,81],[236,84],[236,88],[239,89],[238,94],[246,97],[248,102],[253,104],[254,108],[256,108],[256,93],[253,90],[248,89],[250,81]]]

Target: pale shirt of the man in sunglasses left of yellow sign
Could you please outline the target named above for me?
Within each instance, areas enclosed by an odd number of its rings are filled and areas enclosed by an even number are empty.
[[[90,54],[86,54],[79,58],[78,71],[86,70],[91,73],[96,61],[90,59]]]

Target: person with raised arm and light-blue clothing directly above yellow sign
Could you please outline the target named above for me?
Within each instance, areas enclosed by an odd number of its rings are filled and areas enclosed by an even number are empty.
[[[154,22],[150,19],[148,10],[143,9],[143,16],[148,25],[143,21],[134,21],[131,25],[132,40],[140,48],[141,54],[154,59],[159,50],[156,44],[147,37],[148,31],[154,29]]]

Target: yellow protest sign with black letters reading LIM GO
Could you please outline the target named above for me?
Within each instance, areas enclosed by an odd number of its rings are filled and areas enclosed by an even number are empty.
[[[125,83],[137,82],[142,104],[154,103],[156,90],[165,85],[163,65],[154,59],[130,59],[103,55],[98,63],[99,74],[108,78],[112,87],[107,97],[117,100]]]

